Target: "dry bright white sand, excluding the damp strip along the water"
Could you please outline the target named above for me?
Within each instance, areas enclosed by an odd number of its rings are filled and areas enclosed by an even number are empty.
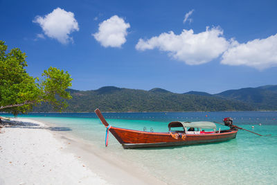
[[[20,121],[20,120],[17,120]],[[66,143],[28,121],[27,127],[5,127],[0,134],[0,184],[107,184],[91,172]]]

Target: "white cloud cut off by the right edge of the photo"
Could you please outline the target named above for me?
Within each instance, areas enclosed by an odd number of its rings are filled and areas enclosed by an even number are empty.
[[[262,70],[277,67],[277,34],[235,44],[222,55],[222,64],[246,65]]]

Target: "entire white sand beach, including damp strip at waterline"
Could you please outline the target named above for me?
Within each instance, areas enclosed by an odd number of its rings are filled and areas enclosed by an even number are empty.
[[[164,184],[48,125],[12,118],[0,133],[0,184]]]

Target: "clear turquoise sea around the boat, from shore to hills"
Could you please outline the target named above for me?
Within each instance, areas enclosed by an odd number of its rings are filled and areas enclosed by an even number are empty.
[[[136,164],[137,168],[168,184],[276,184],[277,112],[154,112],[105,113],[116,127],[154,132],[168,131],[171,121],[217,121],[231,116],[234,125],[259,134],[239,131],[237,138],[222,143],[175,148],[124,150],[112,134],[105,148],[105,127],[94,113],[28,114],[19,117],[53,123],[60,132],[85,139],[99,150]],[[7,116],[7,114],[0,114]],[[10,115],[11,116],[11,115]],[[259,125],[261,123],[261,125]],[[254,127],[252,127],[254,126]],[[217,130],[225,129],[217,124]],[[59,129],[57,129],[59,130]]]

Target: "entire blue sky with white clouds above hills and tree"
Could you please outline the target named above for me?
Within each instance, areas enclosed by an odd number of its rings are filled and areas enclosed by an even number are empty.
[[[1,1],[0,39],[73,89],[276,85],[277,1]],[[187,17],[185,21],[185,17]]]

